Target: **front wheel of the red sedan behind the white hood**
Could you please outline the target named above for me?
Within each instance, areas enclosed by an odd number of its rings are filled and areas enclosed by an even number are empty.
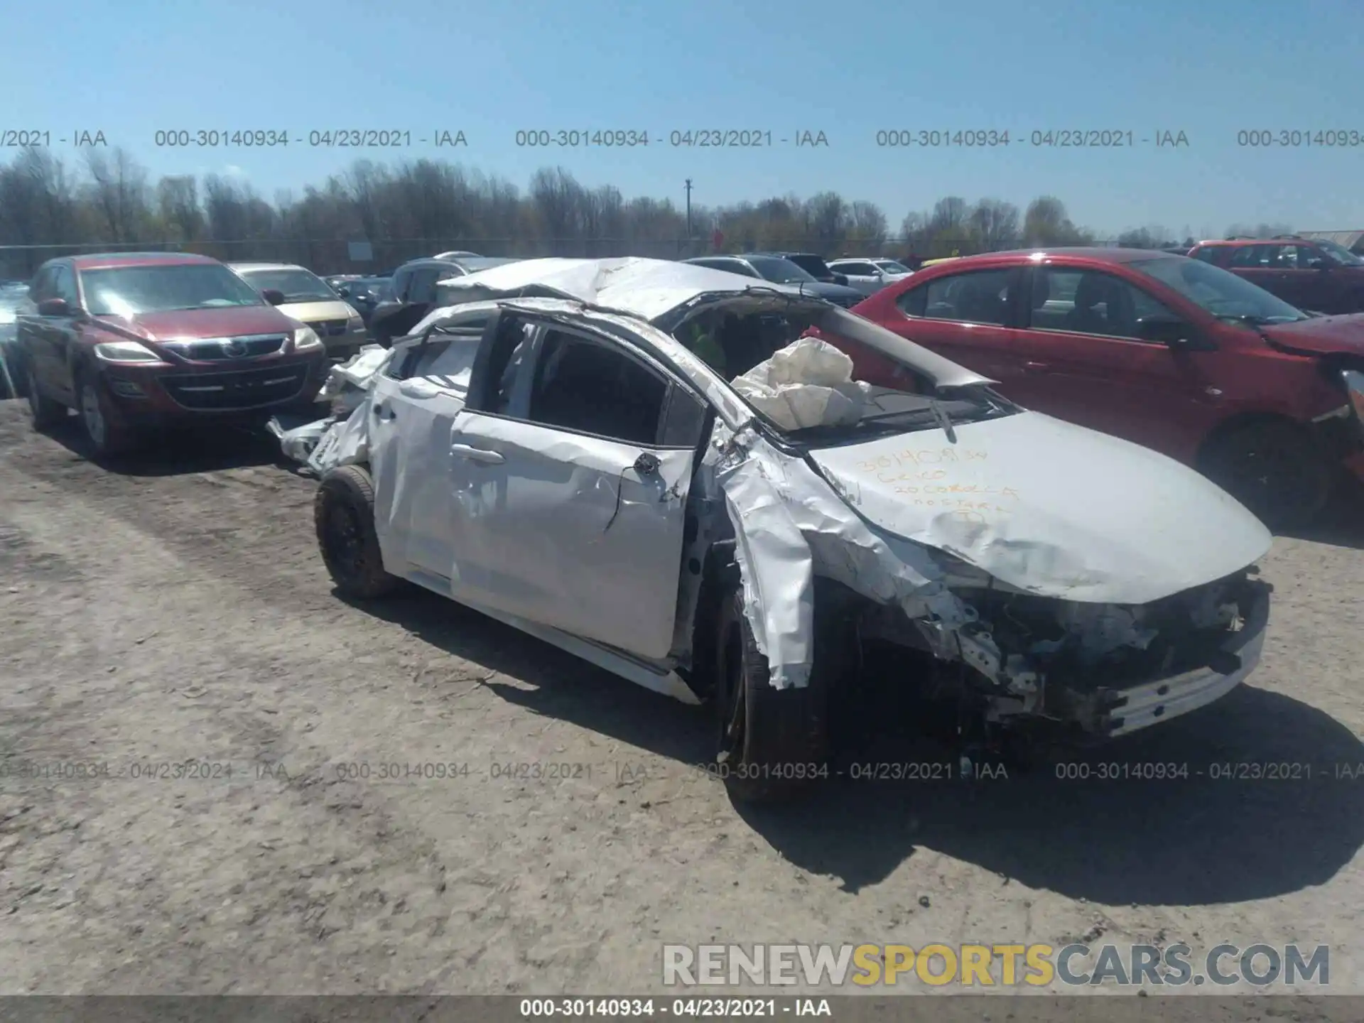
[[[1202,468],[1270,529],[1311,522],[1337,481],[1334,464],[1305,430],[1273,420],[1213,438]]]

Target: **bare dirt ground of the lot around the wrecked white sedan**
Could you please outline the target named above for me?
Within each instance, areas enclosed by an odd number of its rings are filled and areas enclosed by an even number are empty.
[[[1364,527],[1275,540],[1251,685],[1088,758],[1188,779],[756,813],[692,767],[704,711],[435,596],[338,599],[271,439],[109,471],[75,438],[0,404],[3,993],[647,993],[666,941],[1082,937],[1330,944],[1364,993]]]

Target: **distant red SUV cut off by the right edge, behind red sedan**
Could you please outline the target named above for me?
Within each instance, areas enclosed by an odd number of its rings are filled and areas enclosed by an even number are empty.
[[[1364,312],[1364,259],[1335,241],[1274,239],[1199,241],[1188,252],[1316,312]]]

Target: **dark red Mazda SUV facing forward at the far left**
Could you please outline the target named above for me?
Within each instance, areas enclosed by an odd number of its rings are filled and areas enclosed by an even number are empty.
[[[149,427],[255,419],[311,401],[326,346],[217,259],[134,252],[49,259],[18,318],[33,423],[74,408],[95,454]]]

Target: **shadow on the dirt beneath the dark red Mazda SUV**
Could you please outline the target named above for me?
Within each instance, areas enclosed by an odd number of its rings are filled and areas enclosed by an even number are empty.
[[[97,457],[80,428],[80,420],[65,421],[44,431],[68,451],[120,476],[187,476],[198,472],[274,465],[296,469],[284,457],[280,441],[263,427],[217,426],[176,428],[154,434],[128,454]]]

